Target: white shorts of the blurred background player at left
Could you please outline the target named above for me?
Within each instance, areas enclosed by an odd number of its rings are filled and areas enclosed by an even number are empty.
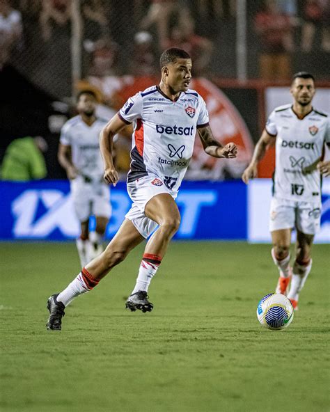
[[[87,221],[91,215],[109,219],[110,189],[106,183],[86,183],[83,177],[78,176],[71,180],[70,187],[74,211],[80,222]]]

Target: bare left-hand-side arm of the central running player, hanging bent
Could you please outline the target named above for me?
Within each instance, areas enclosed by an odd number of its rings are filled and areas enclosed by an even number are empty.
[[[104,164],[103,178],[107,183],[113,184],[113,186],[116,186],[119,178],[118,172],[113,165],[113,137],[125,126],[127,126],[126,123],[116,114],[100,133],[100,150]]]

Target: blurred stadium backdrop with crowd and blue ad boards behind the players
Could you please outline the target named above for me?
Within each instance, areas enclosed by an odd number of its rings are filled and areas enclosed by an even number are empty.
[[[274,151],[270,150],[260,164],[259,175],[264,179],[248,188],[239,179],[267,115],[274,106],[290,102],[288,86],[294,72],[308,70],[315,75],[318,90],[314,105],[329,111],[329,2],[9,3],[18,12],[22,33],[10,47],[2,43],[8,52],[1,53],[0,160],[8,144],[23,136],[44,136],[49,148],[45,153],[46,182],[1,182],[5,222],[1,239],[77,236],[68,182],[63,182],[65,173],[56,159],[61,126],[74,115],[75,93],[83,88],[97,90],[102,102],[98,112],[110,118],[127,97],[159,81],[159,54],[166,47],[178,46],[194,59],[191,87],[207,102],[214,135],[223,143],[235,141],[239,157],[235,161],[205,157],[196,139],[187,173],[189,182],[178,199],[184,224],[177,237],[269,241],[271,182],[267,178],[274,170]],[[261,35],[260,28],[271,24],[267,5],[276,8],[276,17],[271,19],[275,29]],[[118,139],[117,166],[122,180],[129,167],[129,147],[127,139]],[[210,182],[202,184],[200,180]],[[329,179],[324,182],[322,199],[322,231],[316,240],[329,242]],[[123,184],[113,190],[109,237],[127,207]],[[219,221],[214,231],[212,216],[219,211],[230,211],[237,221],[235,228],[226,228]]]

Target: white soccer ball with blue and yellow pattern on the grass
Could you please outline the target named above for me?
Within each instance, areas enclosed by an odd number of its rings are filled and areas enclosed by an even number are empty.
[[[258,321],[265,328],[278,331],[288,328],[292,322],[294,309],[290,300],[279,293],[269,293],[258,304]]]

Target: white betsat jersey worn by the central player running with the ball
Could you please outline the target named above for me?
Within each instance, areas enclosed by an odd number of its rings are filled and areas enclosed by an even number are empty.
[[[127,181],[153,173],[168,189],[178,191],[193,154],[196,129],[209,121],[203,98],[187,90],[172,101],[152,86],[130,97],[118,115],[134,126]]]

